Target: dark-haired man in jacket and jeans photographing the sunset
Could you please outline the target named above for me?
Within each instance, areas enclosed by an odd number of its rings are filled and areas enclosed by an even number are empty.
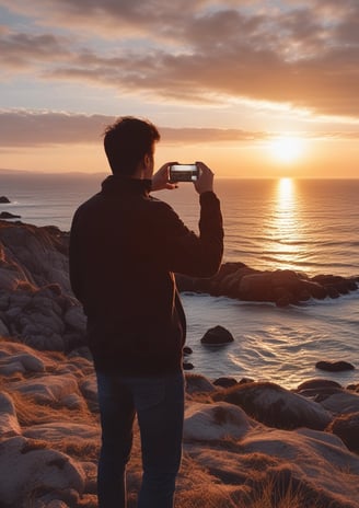
[[[173,506],[184,416],[182,350],[186,322],[174,273],[208,277],[223,251],[213,174],[201,162],[194,184],[199,236],[151,190],[174,188],[169,163],[153,175],[160,135],[142,119],[109,126],[104,146],[113,174],[76,211],[70,278],[88,316],[102,424],[99,507],[126,507],[125,469],[137,414],[143,476],[140,508]]]

